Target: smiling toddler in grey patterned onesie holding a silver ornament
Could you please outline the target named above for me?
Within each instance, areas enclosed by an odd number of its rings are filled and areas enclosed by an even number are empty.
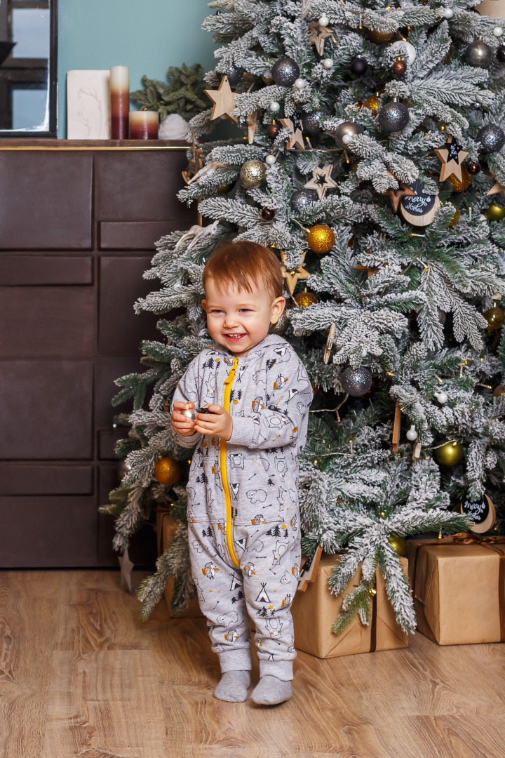
[[[187,487],[192,576],[220,659],[215,697],[247,697],[249,615],[260,660],[251,699],[273,705],[291,697],[297,654],[289,606],[301,561],[298,456],[313,393],[294,350],[269,334],[285,307],[276,255],[226,243],[210,255],[203,282],[216,345],[189,365],[171,415],[178,443],[196,446]],[[195,421],[182,415],[188,409]]]

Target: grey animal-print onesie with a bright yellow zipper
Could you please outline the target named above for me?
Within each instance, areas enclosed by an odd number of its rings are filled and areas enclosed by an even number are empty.
[[[217,403],[233,419],[228,442],[195,433],[188,482],[189,552],[201,611],[221,671],[251,669],[251,625],[260,675],[292,679],[289,606],[301,561],[298,456],[313,393],[282,337],[268,335],[245,358],[217,345],[189,365],[174,393]],[[246,610],[247,609],[247,610]]]

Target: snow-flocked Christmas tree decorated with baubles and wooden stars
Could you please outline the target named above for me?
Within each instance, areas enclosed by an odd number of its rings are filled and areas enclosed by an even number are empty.
[[[145,370],[117,381],[117,448],[129,473],[104,512],[114,548],[170,504],[176,539],[141,585],[146,618],[169,575],[173,608],[189,572],[186,452],[170,397],[210,344],[201,271],[229,238],[279,255],[295,346],[316,396],[299,480],[304,552],[344,550],[336,594],[363,564],[334,631],[369,620],[376,569],[402,628],[415,617],[404,537],[461,531],[488,496],[503,519],[505,47],[472,0],[217,0],[204,28],[220,45],[212,107],[192,119],[188,185],[207,226],[157,244],[153,292],[166,315],[142,344]],[[233,139],[198,143],[218,117]],[[179,478],[180,476],[180,478]],[[179,480],[176,482],[176,480]]]

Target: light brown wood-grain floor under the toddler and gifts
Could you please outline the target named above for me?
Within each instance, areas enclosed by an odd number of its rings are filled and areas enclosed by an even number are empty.
[[[503,645],[298,653],[292,700],[254,706],[213,697],[204,619],[139,608],[117,572],[0,572],[2,758],[505,755]]]

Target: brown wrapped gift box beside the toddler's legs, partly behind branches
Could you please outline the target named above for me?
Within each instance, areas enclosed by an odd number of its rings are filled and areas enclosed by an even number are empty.
[[[372,620],[363,625],[356,616],[341,634],[332,631],[333,622],[341,612],[344,597],[361,581],[361,568],[338,597],[328,587],[329,575],[340,556],[320,556],[305,590],[295,594],[291,613],[295,623],[295,648],[317,658],[350,656],[375,650],[407,647],[407,634],[397,625],[396,616],[385,591],[381,572],[376,575],[376,594],[372,596]],[[407,559],[401,558],[407,574]]]

